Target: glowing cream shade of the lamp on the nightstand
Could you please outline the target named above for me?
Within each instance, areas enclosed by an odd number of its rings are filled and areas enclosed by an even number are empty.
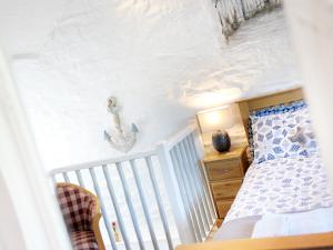
[[[202,133],[216,130],[225,131],[234,124],[230,106],[200,111],[196,113],[196,118]]]

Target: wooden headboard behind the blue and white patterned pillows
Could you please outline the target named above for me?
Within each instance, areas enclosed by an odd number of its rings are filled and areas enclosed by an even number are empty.
[[[249,139],[248,123],[249,123],[249,116],[251,111],[262,109],[262,108],[268,108],[271,106],[289,103],[292,101],[299,101],[303,99],[304,99],[303,90],[302,88],[297,88],[297,89],[291,89],[278,93],[272,93],[268,96],[239,101],[236,104],[239,106],[240,109],[242,122],[244,126],[244,130],[246,131],[248,139]]]

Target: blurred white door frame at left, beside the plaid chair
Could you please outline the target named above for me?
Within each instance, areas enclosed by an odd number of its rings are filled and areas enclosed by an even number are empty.
[[[71,250],[22,106],[0,53],[0,247]]]

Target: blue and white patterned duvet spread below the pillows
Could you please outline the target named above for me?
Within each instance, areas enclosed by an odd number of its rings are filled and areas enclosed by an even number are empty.
[[[327,176],[319,154],[278,158],[252,164],[224,222],[292,213],[333,206]]]

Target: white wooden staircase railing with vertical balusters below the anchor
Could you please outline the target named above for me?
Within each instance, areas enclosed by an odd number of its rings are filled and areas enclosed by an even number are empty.
[[[51,172],[54,182],[77,183],[100,198],[107,249],[173,249],[203,241],[216,214],[200,161],[195,127],[155,150]],[[119,224],[121,239],[112,222]]]

